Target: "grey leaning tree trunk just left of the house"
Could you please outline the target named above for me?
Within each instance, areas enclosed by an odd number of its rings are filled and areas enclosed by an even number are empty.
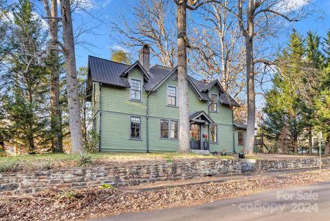
[[[80,105],[76,70],[76,55],[74,52],[74,32],[72,28],[72,13],[69,0],[61,0],[63,24],[64,58],[67,80],[67,103],[69,109],[69,126],[71,132],[71,153],[83,151],[83,134],[81,131]]]

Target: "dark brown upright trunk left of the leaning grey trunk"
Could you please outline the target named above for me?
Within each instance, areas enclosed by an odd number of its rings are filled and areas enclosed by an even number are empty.
[[[46,1],[46,3],[48,3]],[[58,19],[57,19],[57,1],[51,0],[50,14],[52,22],[50,22],[50,119],[52,134],[54,136],[52,149],[54,152],[63,151],[63,134],[62,134],[62,112],[60,103],[60,63],[58,60]]]

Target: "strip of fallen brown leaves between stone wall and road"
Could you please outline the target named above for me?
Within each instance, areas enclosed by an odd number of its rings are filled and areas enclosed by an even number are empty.
[[[0,196],[0,220],[83,220],[100,215],[166,209],[330,180],[330,169],[131,192],[121,189],[45,191]]]

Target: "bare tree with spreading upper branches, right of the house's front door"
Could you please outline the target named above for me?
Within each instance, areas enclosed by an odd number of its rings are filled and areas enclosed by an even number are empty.
[[[256,63],[265,63],[272,65],[271,62],[264,59],[255,59],[254,56],[254,39],[256,36],[265,36],[268,33],[265,32],[269,26],[270,17],[285,19],[285,21],[293,22],[298,21],[300,12],[295,13],[288,5],[289,1],[253,1],[249,0],[247,3],[243,3],[242,0],[238,0],[238,13],[239,27],[245,39],[245,51],[246,51],[246,81],[247,81],[247,103],[248,103],[248,128],[247,139],[245,147],[248,154],[253,153],[254,148],[254,127],[256,121],[256,101],[254,90],[254,65]],[[288,13],[283,12],[283,9],[289,10]],[[246,13],[246,14],[245,14]],[[294,18],[290,18],[295,15]],[[263,32],[264,31],[264,32]]]

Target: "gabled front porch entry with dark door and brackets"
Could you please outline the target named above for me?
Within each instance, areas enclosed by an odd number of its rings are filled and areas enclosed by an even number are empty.
[[[196,154],[210,154],[210,123],[214,121],[205,112],[190,116],[190,149]]]

